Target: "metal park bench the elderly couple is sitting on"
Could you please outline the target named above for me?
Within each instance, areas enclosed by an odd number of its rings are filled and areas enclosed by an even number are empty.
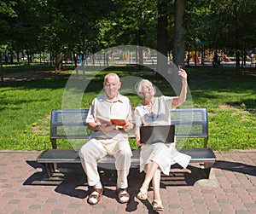
[[[37,162],[44,165],[48,178],[52,178],[57,171],[57,165],[63,163],[80,163],[78,150],[58,149],[57,139],[86,139],[91,131],[85,124],[88,109],[53,110],[50,119],[50,142],[52,148],[40,153]],[[175,136],[178,139],[201,138],[203,147],[182,148],[182,153],[189,154],[192,158],[190,163],[199,163],[209,177],[212,165],[216,157],[208,142],[208,119],[206,108],[183,108],[171,111],[172,124],[175,125]],[[129,133],[134,138],[134,133]],[[131,167],[139,167],[140,148],[132,151]],[[98,161],[99,165],[113,165],[112,155]]]

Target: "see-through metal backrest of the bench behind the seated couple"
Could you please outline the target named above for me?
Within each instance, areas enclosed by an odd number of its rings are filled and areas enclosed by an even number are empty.
[[[89,109],[52,110],[50,119],[50,141],[56,148],[56,139],[84,139],[92,133],[85,124]],[[172,124],[177,138],[202,137],[207,147],[208,119],[206,108],[181,108],[171,111]],[[129,133],[134,137],[134,133]]]

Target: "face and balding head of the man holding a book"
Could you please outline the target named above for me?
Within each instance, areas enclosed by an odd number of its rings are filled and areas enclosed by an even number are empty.
[[[108,98],[113,99],[114,97],[116,97],[116,95],[118,95],[121,83],[118,82],[115,77],[110,76],[106,79],[106,82],[103,83],[103,86],[106,94],[108,95]]]

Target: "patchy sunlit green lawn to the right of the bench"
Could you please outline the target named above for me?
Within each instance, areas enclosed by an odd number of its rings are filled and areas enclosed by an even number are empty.
[[[207,107],[209,147],[224,151],[255,148],[256,76],[228,68],[190,72],[195,107]]]

